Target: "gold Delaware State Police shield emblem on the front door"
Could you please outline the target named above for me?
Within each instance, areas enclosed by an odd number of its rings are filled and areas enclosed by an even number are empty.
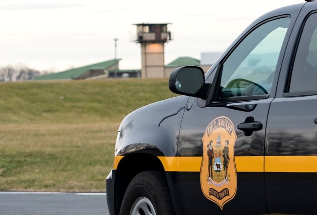
[[[206,198],[216,203],[221,210],[237,191],[234,161],[236,139],[234,125],[227,117],[214,119],[203,136],[200,184]]]

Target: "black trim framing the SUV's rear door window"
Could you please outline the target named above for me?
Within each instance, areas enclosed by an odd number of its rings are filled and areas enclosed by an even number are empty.
[[[294,68],[294,63],[295,63],[295,58],[297,55],[297,50],[299,47],[299,43],[301,41],[303,32],[304,32],[304,28],[305,25],[307,23],[307,20],[309,19],[309,17],[313,14],[316,14],[317,10],[311,11],[310,13],[308,13],[301,25],[300,31],[298,33],[297,39],[296,39],[296,48],[294,50],[293,56],[292,56],[292,60],[291,60],[291,67],[288,71],[288,75],[287,75],[287,81],[286,81],[286,85],[284,87],[284,92],[283,92],[283,96],[284,97],[297,97],[297,96],[309,96],[309,95],[317,95],[317,90],[305,90],[305,91],[297,91],[297,92],[290,92],[289,88],[291,85],[291,78],[292,78],[292,73],[293,73],[293,68]]]

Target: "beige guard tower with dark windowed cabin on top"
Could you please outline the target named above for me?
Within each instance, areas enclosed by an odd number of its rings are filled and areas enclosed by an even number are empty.
[[[135,24],[137,26],[136,43],[141,43],[141,77],[165,77],[164,43],[171,40],[171,33],[167,25],[163,24]]]

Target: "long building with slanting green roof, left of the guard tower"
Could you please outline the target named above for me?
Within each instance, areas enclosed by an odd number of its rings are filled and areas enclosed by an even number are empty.
[[[70,80],[87,79],[95,76],[108,77],[108,71],[118,68],[121,59],[113,59],[83,67],[73,68],[58,73],[37,76],[34,80]]]

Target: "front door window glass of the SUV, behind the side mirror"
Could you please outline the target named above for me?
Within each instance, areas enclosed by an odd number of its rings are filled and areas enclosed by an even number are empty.
[[[270,93],[289,17],[272,20],[252,31],[223,63],[219,98]]]

